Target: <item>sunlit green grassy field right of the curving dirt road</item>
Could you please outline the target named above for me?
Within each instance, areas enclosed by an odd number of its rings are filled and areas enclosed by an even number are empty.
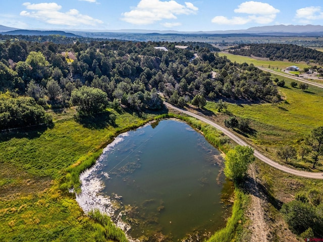
[[[312,129],[323,126],[323,89],[309,86],[304,92],[299,88],[292,88],[292,80],[272,75],[272,78],[284,79],[285,87],[278,87],[284,101],[271,104],[233,104],[228,103],[228,111],[237,117],[249,118],[253,132],[247,139],[255,144],[258,149],[270,154],[274,159],[282,161],[276,155],[279,147],[292,145],[296,149],[301,144],[304,136]],[[216,113],[216,103],[207,102],[207,110]],[[311,164],[298,159],[293,161],[296,167],[310,169]],[[322,166],[318,167],[322,169]]]

